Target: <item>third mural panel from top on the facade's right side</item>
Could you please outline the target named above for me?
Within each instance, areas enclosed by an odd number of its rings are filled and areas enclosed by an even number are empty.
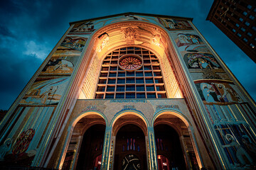
[[[220,65],[213,55],[203,53],[187,53],[184,55],[188,69],[218,69]]]

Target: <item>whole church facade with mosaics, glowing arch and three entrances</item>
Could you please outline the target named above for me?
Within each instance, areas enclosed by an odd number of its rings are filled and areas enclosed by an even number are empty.
[[[252,169],[255,112],[192,18],[77,21],[1,121],[0,166]]]

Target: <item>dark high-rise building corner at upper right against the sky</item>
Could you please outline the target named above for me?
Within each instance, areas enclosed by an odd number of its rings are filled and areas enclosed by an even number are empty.
[[[206,20],[211,21],[256,62],[256,1],[215,0]]]

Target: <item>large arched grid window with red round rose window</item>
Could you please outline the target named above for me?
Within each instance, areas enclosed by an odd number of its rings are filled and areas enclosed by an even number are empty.
[[[167,98],[156,55],[141,47],[110,52],[102,62],[95,98]]]

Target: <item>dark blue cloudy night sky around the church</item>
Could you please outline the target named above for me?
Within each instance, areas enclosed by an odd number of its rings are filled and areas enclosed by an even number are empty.
[[[212,4],[212,0],[2,1],[0,109],[9,109],[70,22],[126,12],[193,18],[194,25],[255,100],[256,64],[206,21]]]

